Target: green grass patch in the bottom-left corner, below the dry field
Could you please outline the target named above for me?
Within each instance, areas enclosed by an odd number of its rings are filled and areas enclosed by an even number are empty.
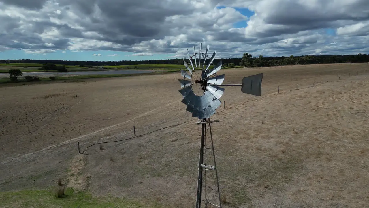
[[[0,207],[73,207],[73,208],[159,208],[156,202],[145,205],[142,202],[130,201],[116,197],[93,197],[87,192],[74,193],[72,188],[65,190],[63,198],[56,198],[53,188],[47,190],[22,190],[0,192]]]

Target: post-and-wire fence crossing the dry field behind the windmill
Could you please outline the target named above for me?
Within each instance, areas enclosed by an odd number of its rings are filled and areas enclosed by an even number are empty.
[[[220,106],[215,114],[221,113],[223,111],[230,110],[233,107],[236,107],[238,105],[242,105],[242,104],[252,102],[252,101],[255,101],[255,100],[263,99],[265,97],[271,97],[271,96],[274,96],[274,95],[277,95],[277,94],[283,94],[283,93],[287,93],[287,92],[294,91],[294,90],[303,90],[303,89],[307,89],[307,88],[310,88],[310,87],[316,87],[318,85],[325,84],[325,83],[338,82],[339,80],[345,80],[345,79],[353,77],[353,76],[355,76],[355,77],[360,76],[361,74],[366,74],[366,70],[364,70],[363,73],[359,73],[358,71],[356,71],[356,73],[354,73],[354,74],[352,74],[350,72],[341,73],[341,74],[331,74],[331,75],[307,78],[307,79],[303,79],[303,80],[290,81],[288,83],[284,83],[284,84],[280,84],[280,85],[268,85],[268,86],[264,87],[264,90],[262,88],[262,90],[263,90],[262,94],[264,94],[263,96],[259,96],[259,97],[253,96],[253,98],[250,99],[250,100],[247,100],[247,101],[244,101],[244,102],[241,102],[241,103],[237,103],[237,104],[232,104],[232,105],[230,105],[230,107],[226,106],[225,105],[225,100],[223,100],[223,102],[222,102],[223,103],[223,109]],[[114,140],[114,141],[106,141],[106,142],[97,142],[97,143],[94,143],[94,144],[91,144],[91,145],[87,146],[82,151],[82,153],[79,150],[79,142],[78,142],[78,152],[79,152],[79,154],[84,154],[85,151],[88,148],[90,148],[94,145],[131,140],[131,139],[134,139],[134,138],[137,138],[137,137],[142,137],[144,135],[151,134],[151,133],[156,132],[156,131],[164,130],[166,128],[186,124],[186,123],[189,123],[193,120],[197,120],[197,118],[188,119],[187,118],[187,111],[186,111],[186,121],[185,122],[178,123],[178,124],[173,124],[173,125],[168,125],[166,127],[159,128],[159,129],[154,130],[154,131],[146,132],[144,134],[135,135],[134,137],[130,137],[130,138],[125,138],[125,139],[121,139],[121,140]],[[135,130],[133,130],[133,131],[135,132]],[[117,147],[117,146],[118,145],[115,145],[113,147]]]

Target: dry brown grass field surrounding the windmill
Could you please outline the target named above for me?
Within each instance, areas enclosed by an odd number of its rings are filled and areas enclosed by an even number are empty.
[[[212,128],[224,207],[367,207],[368,69],[222,70],[224,84],[264,73],[262,97],[227,87],[225,108],[211,117],[221,121]],[[201,126],[186,120],[180,78],[0,86],[0,191],[47,188],[62,177],[93,196],[193,207]],[[77,141],[83,151],[133,137],[133,126],[142,136],[78,154]]]

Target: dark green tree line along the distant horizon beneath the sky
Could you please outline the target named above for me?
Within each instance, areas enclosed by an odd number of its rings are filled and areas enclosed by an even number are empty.
[[[224,65],[244,66],[244,67],[268,67],[281,65],[296,64],[330,64],[330,63],[366,63],[369,62],[368,54],[357,55],[319,55],[319,56],[289,56],[289,57],[252,57],[251,54],[245,53],[242,58],[220,58],[214,62],[222,61]],[[183,64],[183,59],[166,59],[166,60],[143,60],[143,61],[66,61],[66,60],[34,60],[34,59],[16,59],[16,60],[0,60],[1,63],[38,63],[38,64],[61,64],[82,67],[93,66],[120,66],[120,65],[137,65],[137,64]]]

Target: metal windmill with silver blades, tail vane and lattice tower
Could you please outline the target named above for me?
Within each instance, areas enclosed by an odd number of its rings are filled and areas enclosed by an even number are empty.
[[[209,205],[222,207],[213,135],[211,132],[211,123],[219,123],[220,121],[210,120],[210,116],[215,113],[215,110],[221,104],[219,98],[225,90],[222,87],[241,86],[242,93],[260,96],[263,78],[263,73],[260,73],[244,77],[242,84],[222,84],[225,75],[217,74],[222,67],[222,61],[219,61],[216,65],[213,64],[217,52],[214,51],[212,56],[209,57],[209,48],[210,46],[207,45],[205,53],[203,53],[201,51],[202,43],[200,43],[199,53],[196,53],[195,45],[193,45],[192,55],[190,55],[187,49],[188,61],[183,58],[186,70],[181,69],[183,79],[179,79],[181,84],[179,92],[183,96],[181,102],[187,105],[186,111],[192,113],[192,117],[199,118],[196,123],[201,124],[200,157],[197,164],[199,174],[197,177],[196,208],[201,207],[201,202],[204,202],[205,207]],[[210,139],[210,141],[207,139]],[[210,155],[207,152],[210,152]],[[213,174],[214,171],[215,175]],[[216,188],[209,188],[207,178],[213,178]],[[202,195],[203,193],[204,195]],[[213,195],[213,197],[209,197],[209,195]]]

